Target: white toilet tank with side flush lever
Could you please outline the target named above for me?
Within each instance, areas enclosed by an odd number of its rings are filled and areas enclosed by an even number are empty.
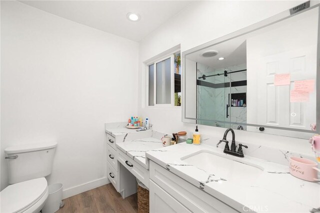
[[[55,147],[56,142],[43,142],[5,148],[9,184],[49,175]]]

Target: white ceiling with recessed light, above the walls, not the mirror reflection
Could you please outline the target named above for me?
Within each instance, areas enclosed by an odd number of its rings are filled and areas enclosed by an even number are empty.
[[[188,0],[19,0],[22,3],[103,30],[139,41],[192,1]],[[141,20],[129,21],[128,12]]]

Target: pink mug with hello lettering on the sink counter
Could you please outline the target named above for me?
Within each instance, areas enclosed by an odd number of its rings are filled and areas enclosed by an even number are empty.
[[[320,169],[317,168],[316,162],[301,157],[290,157],[289,162],[290,174],[293,176],[307,181],[320,181],[317,178]]]

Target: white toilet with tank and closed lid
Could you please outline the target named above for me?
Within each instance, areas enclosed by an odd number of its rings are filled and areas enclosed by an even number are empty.
[[[0,212],[39,212],[48,197],[45,176],[52,171],[56,142],[4,149],[9,184],[0,192]]]

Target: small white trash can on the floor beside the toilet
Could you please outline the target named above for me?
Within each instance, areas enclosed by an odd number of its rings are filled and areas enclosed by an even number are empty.
[[[60,208],[62,203],[62,183],[48,185],[49,195],[42,208],[42,213],[53,213]],[[62,206],[61,206],[62,207]]]

